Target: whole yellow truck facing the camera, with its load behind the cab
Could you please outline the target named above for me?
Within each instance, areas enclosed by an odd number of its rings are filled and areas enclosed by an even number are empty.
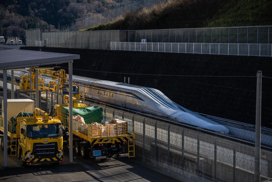
[[[18,101],[17,105],[20,105]],[[58,165],[63,162],[61,124],[59,119],[48,117],[47,112],[39,108],[35,108],[33,112],[20,112],[16,117],[8,120],[8,151],[20,159],[22,167],[32,164]],[[0,133],[4,133],[2,116]],[[1,149],[4,150],[3,136],[1,137]]]

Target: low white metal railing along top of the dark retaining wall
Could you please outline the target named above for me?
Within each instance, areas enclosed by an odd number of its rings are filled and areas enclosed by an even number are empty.
[[[272,56],[272,44],[208,44],[208,43],[156,43],[111,42],[111,50],[148,51],[192,54],[222,54]]]

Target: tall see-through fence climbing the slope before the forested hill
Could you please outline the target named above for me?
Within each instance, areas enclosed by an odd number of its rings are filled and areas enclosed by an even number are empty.
[[[151,7],[159,2],[164,2],[163,0],[138,0],[130,4],[123,5],[121,7],[104,11],[102,13],[94,14],[89,17],[82,17],[76,21],[72,26],[69,27],[70,31],[77,31],[81,29],[86,29],[89,27],[97,26],[99,24],[108,23],[114,18],[127,13],[129,11],[137,11],[144,7]]]

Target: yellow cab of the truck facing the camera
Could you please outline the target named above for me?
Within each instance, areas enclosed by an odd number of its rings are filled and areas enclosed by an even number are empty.
[[[17,156],[21,165],[55,164],[63,162],[63,136],[61,122],[48,117],[45,111],[35,108],[33,117],[18,117],[20,137]],[[17,132],[18,134],[18,132]]]

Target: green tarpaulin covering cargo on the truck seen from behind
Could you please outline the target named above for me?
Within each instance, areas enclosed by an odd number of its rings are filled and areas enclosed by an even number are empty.
[[[69,116],[69,107],[62,107],[61,114]],[[73,108],[73,116],[81,116],[86,124],[103,122],[103,109],[100,106]]]

